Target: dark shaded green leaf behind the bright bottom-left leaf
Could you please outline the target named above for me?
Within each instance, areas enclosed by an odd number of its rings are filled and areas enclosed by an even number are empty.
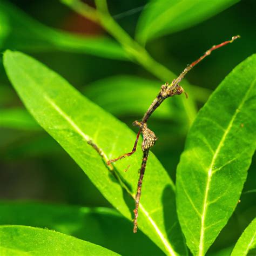
[[[109,248],[122,255],[162,255],[142,232],[110,208],[35,203],[0,203],[0,225],[48,228]]]

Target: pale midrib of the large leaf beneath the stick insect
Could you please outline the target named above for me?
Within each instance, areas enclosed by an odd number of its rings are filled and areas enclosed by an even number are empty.
[[[12,58],[12,59],[13,59],[13,58]],[[13,65],[16,65],[16,68],[19,69],[19,70],[24,74],[25,77],[27,77],[29,80],[31,80],[31,82],[32,82],[33,84],[37,84],[37,82],[36,82],[32,77],[30,77],[30,76],[28,75],[28,73],[26,73],[23,69],[21,69],[20,66],[17,65],[17,63],[16,63],[15,61],[13,62]],[[38,87],[38,86],[37,86],[37,87]],[[32,89],[33,89],[33,88],[32,88]],[[55,103],[50,97],[48,97],[47,94],[45,94],[45,91],[42,90],[41,87],[39,87],[39,90],[42,92],[43,97],[45,98],[46,101],[48,101],[48,102],[50,103],[50,105],[53,107],[53,109],[55,109],[55,110],[60,114],[60,116],[62,116],[68,123],[70,123],[70,125],[73,127],[73,129],[74,129],[80,136],[82,136],[82,138],[83,138],[86,142],[88,142],[89,140],[92,140],[89,136],[87,136],[87,135],[79,128],[79,126],[76,125],[76,123],[75,123],[69,116],[66,115],[65,111],[63,111],[62,109],[60,109],[60,108],[58,107],[58,105],[56,105],[56,103]],[[92,140],[92,141],[93,141],[93,140]],[[107,158],[105,152],[103,152],[103,154],[104,154],[104,156],[105,156],[105,159],[106,159],[106,160],[109,160],[109,159]],[[119,177],[119,174],[118,174],[117,172],[115,172],[115,173],[116,173],[116,175]],[[111,173],[111,174],[112,174],[112,173]],[[113,174],[112,174],[112,175],[113,175]],[[120,180],[119,180],[119,181],[120,181]],[[121,187],[123,187],[123,188],[126,190],[126,192],[129,193],[130,196],[132,196],[132,198],[135,197],[135,194],[133,194],[133,193],[129,190],[129,188],[127,188],[126,186],[124,186],[123,183],[120,183],[120,182],[119,182],[119,185],[120,185]],[[141,203],[139,203],[139,207],[140,207],[140,210],[143,211],[143,213],[144,213],[144,215],[146,216],[146,218],[148,219],[149,223],[153,226],[153,228],[154,228],[154,230],[156,231],[156,233],[158,234],[160,240],[163,242],[163,245],[164,245],[166,251],[169,252],[170,255],[176,256],[176,255],[177,255],[176,252],[173,250],[171,244],[169,243],[169,241],[167,241],[167,239],[165,238],[164,234],[160,231],[160,229],[159,229],[159,227],[157,226],[157,224],[156,224],[156,223],[153,221],[153,219],[150,217],[149,212],[147,212],[147,211],[145,210],[144,206],[143,206]]]

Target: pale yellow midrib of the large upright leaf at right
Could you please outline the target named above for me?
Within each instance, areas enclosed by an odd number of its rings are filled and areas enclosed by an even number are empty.
[[[219,155],[219,152],[225,142],[225,139],[228,135],[228,133],[230,132],[232,126],[233,126],[233,123],[234,123],[234,120],[235,118],[237,117],[237,114],[239,113],[239,110],[242,108],[242,106],[244,105],[253,85],[254,85],[254,82],[255,82],[256,79],[253,80],[253,82],[251,83],[249,89],[247,90],[247,92],[245,93],[245,96],[242,98],[242,101],[241,103],[239,104],[239,106],[237,107],[237,109],[235,110],[235,113],[232,117],[232,119],[230,120],[230,123],[228,123],[228,126],[226,128],[226,131],[224,132],[223,134],[223,137],[221,138],[220,142],[219,142],[219,145],[213,155],[213,158],[212,158],[212,161],[211,161],[211,164],[210,166],[208,167],[208,172],[207,172],[207,183],[206,183],[206,188],[205,188],[205,197],[204,197],[204,204],[203,204],[203,212],[202,212],[202,215],[201,215],[201,230],[200,230],[200,242],[199,242],[199,252],[198,252],[198,255],[199,256],[203,256],[204,255],[204,231],[205,231],[205,227],[204,227],[204,224],[205,224],[205,215],[206,215],[206,211],[207,211],[207,199],[208,199],[208,191],[209,191],[209,188],[210,188],[210,184],[211,184],[211,179],[212,179],[212,175],[214,174],[214,172],[212,172],[212,168],[214,166],[214,163],[215,163],[215,160],[218,158],[218,155]]]

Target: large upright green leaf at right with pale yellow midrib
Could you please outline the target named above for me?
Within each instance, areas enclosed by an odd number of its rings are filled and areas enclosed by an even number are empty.
[[[204,255],[237,206],[255,150],[256,55],[240,63],[199,111],[177,170],[187,245]]]

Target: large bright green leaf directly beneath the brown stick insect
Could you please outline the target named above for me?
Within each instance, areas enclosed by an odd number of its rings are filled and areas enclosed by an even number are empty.
[[[131,151],[136,135],[125,124],[90,102],[66,80],[20,52],[4,53],[6,73],[37,122],[70,154],[103,196],[126,218],[133,218],[141,140],[136,154],[117,162],[105,160]],[[88,144],[95,143],[102,157]],[[129,171],[124,172],[131,164]],[[176,215],[174,185],[150,153],[139,208],[139,228],[166,254],[186,254]],[[132,232],[132,224],[131,224]]]

